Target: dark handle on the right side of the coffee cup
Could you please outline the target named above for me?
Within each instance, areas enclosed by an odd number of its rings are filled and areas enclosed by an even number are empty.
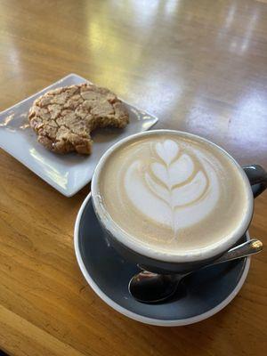
[[[267,188],[267,172],[260,165],[243,166],[242,168],[247,174],[254,198],[256,198]]]

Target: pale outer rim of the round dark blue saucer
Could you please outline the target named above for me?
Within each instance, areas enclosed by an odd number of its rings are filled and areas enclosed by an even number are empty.
[[[238,295],[239,290],[241,287],[244,285],[245,280],[247,279],[247,274],[249,271],[250,267],[250,258],[247,257],[246,262],[245,262],[245,268],[242,271],[242,275],[239,279],[239,282],[237,283],[236,287],[232,290],[231,294],[228,295],[223,302],[219,303],[216,305],[214,308],[211,310],[204,312],[202,314],[199,314],[195,317],[190,317],[186,319],[179,319],[179,320],[160,320],[160,319],[153,319],[149,317],[144,317],[141,314],[135,313],[128,311],[125,307],[122,307],[120,304],[114,302],[111,298],[109,298],[108,295],[106,295],[104,292],[102,292],[101,288],[97,286],[97,284],[94,282],[93,278],[90,276],[89,272],[85,268],[85,263],[83,262],[82,255],[80,253],[80,249],[78,246],[78,236],[79,236],[79,227],[80,227],[80,221],[82,218],[82,215],[85,210],[85,206],[87,205],[89,199],[91,198],[91,192],[85,197],[85,200],[83,201],[82,205],[79,208],[79,211],[77,213],[77,218],[75,222],[75,227],[74,227],[74,249],[75,249],[75,255],[77,258],[77,263],[78,266],[84,275],[85,280],[89,284],[90,287],[92,287],[94,293],[98,295],[101,300],[105,303],[107,303],[112,309],[116,310],[117,312],[125,315],[126,317],[140,321],[144,324],[149,324],[149,325],[154,325],[158,327],[182,327],[185,325],[190,325],[190,324],[195,324],[199,321],[206,320],[207,318],[212,317],[214,314],[217,312],[220,312],[225,308],[231,301],[235,298],[236,295]],[[250,239],[249,232],[246,232],[246,238],[247,240]]]

